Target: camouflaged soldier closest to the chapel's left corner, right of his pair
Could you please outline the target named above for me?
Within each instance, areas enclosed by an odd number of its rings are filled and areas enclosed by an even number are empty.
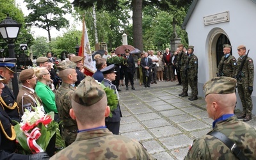
[[[197,89],[197,73],[198,73],[198,59],[194,54],[194,46],[190,45],[188,47],[188,61],[187,61],[187,70],[188,70],[188,83],[191,87],[191,97],[189,100],[196,100],[198,95]]]

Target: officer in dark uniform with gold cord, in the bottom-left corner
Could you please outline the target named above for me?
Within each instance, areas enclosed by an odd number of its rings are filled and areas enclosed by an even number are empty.
[[[0,93],[4,88],[4,84],[2,83],[6,80],[3,76],[0,76]],[[1,106],[3,106],[3,101],[0,101]],[[38,154],[32,155],[22,155],[16,154],[16,133],[14,131],[13,122],[6,113],[6,111],[0,107],[0,158],[1,159],[10,159],[10,160],[39,160],[39,159],[49,159],[50,157],[45,152],[40,152]]]

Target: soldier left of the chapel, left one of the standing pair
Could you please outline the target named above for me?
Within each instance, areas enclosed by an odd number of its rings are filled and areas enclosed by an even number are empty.
[[[179,44],[180,54],[177,58],[177,63],[175,64],[179,68],[180,79],[182,83],[182,93],[179,94],[181,97],[188,96],[188,72],[186,70],[186,61],[188,60],[188,54],[183,51],[183,44]]]

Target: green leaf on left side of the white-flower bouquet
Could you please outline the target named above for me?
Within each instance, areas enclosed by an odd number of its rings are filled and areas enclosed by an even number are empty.
[[[29,149],[27,144],[27,136],[24,134],[23,131],[20,130],[20,125],[14,125],[14,130],[16,132],[16,140],[19,142],[20,146],[27,152],[31,153],[31,150]]]

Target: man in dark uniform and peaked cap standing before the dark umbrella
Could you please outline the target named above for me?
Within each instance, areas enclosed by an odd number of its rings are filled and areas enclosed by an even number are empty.
[[[135,90],[134,83],[133,83],[133,74],[135,72],[135,63],[130,55],[130,50],[125,49],[125,58],[127,59],[126,64],[124,65],[124,77],[125,77],[125,86],[126,90],[129,90],[128,83],[130,81],[132,85],[132,90]]]

